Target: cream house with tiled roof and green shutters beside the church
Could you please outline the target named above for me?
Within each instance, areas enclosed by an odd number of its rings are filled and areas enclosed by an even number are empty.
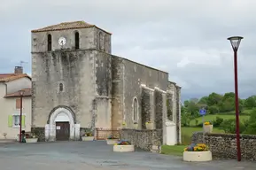
[[[0,139],[16,139],[19,134],[20,95],[22,97],[22,129],[31,129],[31,78],[16,66],[14,73],[0,73]]]

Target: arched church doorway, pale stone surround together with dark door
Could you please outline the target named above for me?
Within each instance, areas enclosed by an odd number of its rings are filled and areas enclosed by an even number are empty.
[[[58,106],[54,108],[50,112],[48,123],[49,133],[47,133],[48,136],[45,137],[46,139],[48,138],[49,141],[67,141],[74,139],[75,131],[77,131],[75,116],[74,112],[68,107]]]

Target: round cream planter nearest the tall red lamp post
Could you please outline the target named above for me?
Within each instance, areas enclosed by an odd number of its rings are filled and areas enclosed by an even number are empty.
[[[189,162],[205,162],[212,160],[211,151],[184,151],[183,160]]]

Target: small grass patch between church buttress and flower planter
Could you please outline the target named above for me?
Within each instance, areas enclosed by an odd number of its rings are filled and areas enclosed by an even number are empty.
[[[166,155],[175,155],[175,156],[182,156],[184,148],[186,145],[175,145],[175,146],[168,146],[162,145],[161,153]]]

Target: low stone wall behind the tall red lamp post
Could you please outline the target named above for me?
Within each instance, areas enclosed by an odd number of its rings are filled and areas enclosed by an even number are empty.
[[[192,135],[192,143],[203,143],[203,133]],[[256,135],[241,135],[242,159],[256,160]],[[206,134],[205,143],[215,158],[237,158],[237,139],[235,134]]]

